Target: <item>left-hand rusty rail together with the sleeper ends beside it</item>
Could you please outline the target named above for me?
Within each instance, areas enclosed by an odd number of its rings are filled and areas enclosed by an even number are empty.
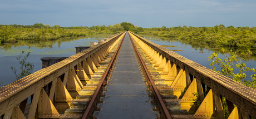
[[[76,96],[76,100],[71,103],[70,109],[65,111],[65,115],[70,115],[68,117],[77,115],[75,117],[92,118],[93,111],[99,110],[96,105],[102,102],[100,97],[104,96],[103,91],[105,91],[106,83],[111,77],[122,41],[124,41],[124,37],[115,43],[110,54],[99,65],[97,72],[87,82],[80,95]]]

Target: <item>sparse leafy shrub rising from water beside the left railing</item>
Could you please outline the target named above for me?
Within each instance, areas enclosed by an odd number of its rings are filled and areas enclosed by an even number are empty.
[[[14,75],[16,75],[16,80],[19,80],[25,76],[28,76],[30,75],[32,72],[33,72],[33,68],[34,68],[34,65],[29,63],[29,62],[26,62],[27,61],[27,58],[29,56],[29,53],[28,52],[25,56],[23,56],[22,58],[22,55],[24,54],[24,51],[21,52],[21,54],[19,54],[17,58],[18,62],[19,62],[19,65],[21,65],[19,67],[19,69],[21,70],[21,73],[17,73],[17,70],[15,67],[11,67]]]

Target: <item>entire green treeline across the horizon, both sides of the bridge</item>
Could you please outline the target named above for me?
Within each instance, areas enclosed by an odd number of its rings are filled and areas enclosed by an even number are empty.
[[[31,26],[0,25],[0,42],[16,42],[17,39],[49,40],[63,37],[88,36],[91,34],[114,34],[124,30],[140,34],[151,34],[187,42],[200,42],[210,45],[224,45],[239,48],[256,48],[256,27],[161,27],[142,28],[131,23],[122,22],[113,26],[60,27],[36,23]]]

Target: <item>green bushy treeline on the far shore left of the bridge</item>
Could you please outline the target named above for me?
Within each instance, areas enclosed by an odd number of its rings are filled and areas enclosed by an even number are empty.
[[[0,25],[0,43],[17,42],[18,39],[27,40],[52,40],[63,37],[88,36],[91,34],[109,33],[114,34],[124,31],[120,24],[113,26],[92,26],[92,27],[60,27],[55,25],[36,23],[31,26],[23,25]]]

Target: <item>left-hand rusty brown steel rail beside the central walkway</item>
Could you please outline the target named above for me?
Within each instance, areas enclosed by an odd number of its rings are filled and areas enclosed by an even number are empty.
[[[126,32],[125,32],[125,35],[126,35]],[[85,118],[90,118],[90,115],[92,115],[93,113],[93,110],[94,110],[94,106],[96,106],[97,104],[97,97],[99,98],[100,96],[100,92],[102,90],[102,86],[104,85],[104,82],[106,81],[106,78],[107,78],[107,75],[112,67],[112,63],[114,62],[116,56],[117,56],[117,53],[120,51],[120,48],[122,46],[122,42],[124,41],[124,38],[125,38],[125,35],[124,37],[122,38],[122,41],[121,43],[119,44],[119,46],[117,47],[117,50],[114,54],[114,56],[112,57],[110,63],[109,63],[109,66],[107,67],[107,70],[105,71],[104,75],[102,76],[101,78],[101,82],[99,83],[99,85],[97,86],[97,90],[95,91],[95,93],[93,94],[92,98],[91,98],[91,101],[90,103],[88,104],[86,110],[85,110],[85,113],[83,113],[83,116],[82,116],[82,119],[85,119]]]

